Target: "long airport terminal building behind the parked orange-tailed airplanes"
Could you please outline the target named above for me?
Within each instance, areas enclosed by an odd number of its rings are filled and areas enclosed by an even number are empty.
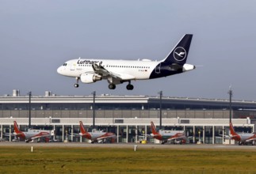
[[[0,96],[1,138],[13,141],[13,121],[26,131],[31,115],[32,127],[55,130],[54,140],[86,142],[75,136],[79,121],[92,128],[111,131],[118,135],[117,142],[139,142],[143,134],[151,134],[151,121],[159,127],[162,117],[164,130],[185,131],[187,142],[205,144],[229,142],[224,134],[229,131],[229,100],[180,98],[163,96]],[[256,123],[256,102],[232,100],[232,122],[239,132],[253,132]],[[95,119],[93,119],[95,118]],[[155,142],[147,138],[147,142]]]

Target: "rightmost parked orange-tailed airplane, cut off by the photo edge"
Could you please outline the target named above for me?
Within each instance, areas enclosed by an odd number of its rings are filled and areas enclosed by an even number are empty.
[[[246,145],[256,141],[256,133],[236,133],[232,123],[229,123],[230,137],[236,142],[239,142],[239,145]]]

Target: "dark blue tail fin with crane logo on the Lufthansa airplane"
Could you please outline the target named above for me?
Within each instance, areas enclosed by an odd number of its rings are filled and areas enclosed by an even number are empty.
[[[163,59],[162,61],[172,66],[183,66],[189,55],[189,47],[192,37],[192,34],[185,34],[173,50],[170,51],[169,55],[166,56],[166,59]]]

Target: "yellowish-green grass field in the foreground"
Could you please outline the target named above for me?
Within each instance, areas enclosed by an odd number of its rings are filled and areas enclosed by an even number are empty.
[[[0,173],[256,173],[256,151],[1,147]]]

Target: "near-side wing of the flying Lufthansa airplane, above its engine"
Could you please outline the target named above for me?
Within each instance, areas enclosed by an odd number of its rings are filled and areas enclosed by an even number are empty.
[[[93,63],[92,67],[94,69],[94,73],[100,74],[101,76],[110,76],[112,78],[117,78],[118,80],[123,81],[135,80],[135,77],[130,74],[114,73],[112,71],[106,70],[103,66],[101,66],[101,64],[97,65],[96,63]]]

